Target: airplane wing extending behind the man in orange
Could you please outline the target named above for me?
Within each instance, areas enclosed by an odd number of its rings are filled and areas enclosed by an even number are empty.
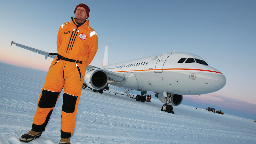
[[[38,49],[35,49],[35,48],[32,48],[32,47],[26,46],[26,45],[14,43],[13,41],[11,42],[11,46],[12,46],[12,44],[16,44],[16,46],[24,48],[24,49],[27,49],[27,50],[32,51],[32,52],[36,52],[36,53],[42,54],[42,55],[44,55],[45,60],[48,57],[54,59],[57,56],[57,55],[49,55],[50,52],[45,52],[45,51],[41,51],[41,50],[38,50]],[[109,71],[109,70],[106,70],[106,69],[101,69],[101,68],[98,68],[98,67],[94,67],[92,65],[88,65],[86,67],[86,70],[90,70],[90,69],[100,69],[100,70],[104,71],[107,74],[109,80],[114,80],[116,82],[121,82],[121,81],[124,80],[124,75],[123,74],[118,74],[118,73],[115,73],[115,72],[112,72],[112,71]]]

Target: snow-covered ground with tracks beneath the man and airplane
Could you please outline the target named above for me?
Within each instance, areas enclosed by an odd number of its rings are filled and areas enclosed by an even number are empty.
[[[31,129],[46,72],[0,63],[0,144],[19,144]],[[45,132],[30,144],[60,141],[62,94]],[[83,89],[71,143],[255,143],[256,123],[186,105],[161,111],[158,99],[138,102],[123,95]]]

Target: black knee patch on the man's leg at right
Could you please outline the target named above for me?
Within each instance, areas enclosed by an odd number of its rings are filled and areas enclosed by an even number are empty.
[[[62,111],[66,113],[73,113],[76,107],[76,100],[77,100],[76,96],[64,93]]]

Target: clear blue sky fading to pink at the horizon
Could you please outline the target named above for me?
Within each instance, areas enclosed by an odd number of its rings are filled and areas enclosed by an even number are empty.
[[[193,53],[227,78],[212,95],[256,104],[256,1],[1,1],[0,61],[47,71],[52,59],[10,42],[56,52],[59,27],[80,3],[91,9],[88,20],[99,38],[91,65],[101,66],[106,45],[110,64]]]

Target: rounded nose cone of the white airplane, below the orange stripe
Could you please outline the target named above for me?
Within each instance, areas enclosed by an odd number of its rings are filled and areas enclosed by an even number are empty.
[[[209,92],[216,92],[220,90],[225,86],[226,82],[226,77],[223,74],[205,73],[204,75],[205,88]]]

